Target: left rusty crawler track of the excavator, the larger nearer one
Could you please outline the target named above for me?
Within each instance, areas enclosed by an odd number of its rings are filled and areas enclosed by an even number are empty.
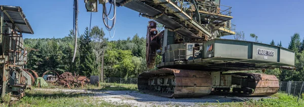
[[[163,84],[159,82],[149,83],[151,78],[170,78],[173,77],[174,83]],[[170,79],[165,79],[170,80]],[[174,87],[173,93],[157,92],[151,90],[150,87]],[[212,78],[210,73],[195,70],[181,70],[163,68],[156,71],[149,71],[141,73],[138,76],[138,90],[146,93],[164,97],[199,97],[210,94],[212,88]]]

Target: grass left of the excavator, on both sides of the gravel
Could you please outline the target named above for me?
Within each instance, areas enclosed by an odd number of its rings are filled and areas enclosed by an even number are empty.
[[[82,92],[62,92],[62,91],[45,91],[45,90],[26,90],[25,96],[19,101],[3,101],[0,106],[130,106],[127,104],[119,105],[105,102],[102,99],[92,99],[92,94]],[[48,84],[44,89],[68,89],[67,87]],[[137,90],[136,84],[116,84],[116,83],[100,83],[100,86],[85,85],[81,87],[73,87],[72,89],[87,90]],[[7,98],[2,98],[7,99]]]

